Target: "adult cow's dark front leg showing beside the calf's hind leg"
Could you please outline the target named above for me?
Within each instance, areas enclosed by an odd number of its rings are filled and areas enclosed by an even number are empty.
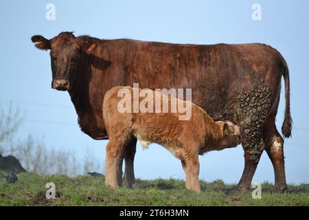
[[[137,139],[133,137],[130,140],[128,146],[126,146],[124,150],[124,162],[125,162],[125,170],[124,170],[124,179],[123,185],[131,188],[135,182],[135,175],[134,175],[134,157],[136,152],[136,143]]]

